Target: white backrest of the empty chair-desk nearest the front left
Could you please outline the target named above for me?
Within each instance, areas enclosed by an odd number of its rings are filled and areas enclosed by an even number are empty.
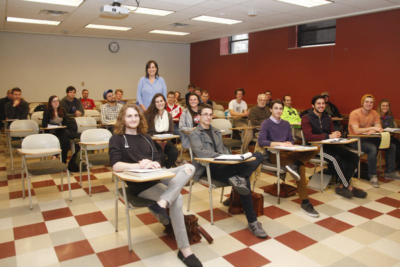
[[[58,138],[53,134],[32,134],[22,140],[22,149],[60,148]],[[40,155],[25,155],[27,158],[37,158],[54,155],[54,152]]]

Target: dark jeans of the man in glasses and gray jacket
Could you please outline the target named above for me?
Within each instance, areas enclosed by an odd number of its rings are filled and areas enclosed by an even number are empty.
[[[261,164],[263,158],[259,152],[253,153],[252,156],[255,157],[255,160],[240,164],[209,164],[212,179],[229,183],[228,178],[237,175],[246,179],[246,186],[250,190],[250,180],[248,178],[258,165]],[[247,222],[256,221],[257,215],[254,212],[251,194],[246,196],[240,195],[240,202],[243,206]]]

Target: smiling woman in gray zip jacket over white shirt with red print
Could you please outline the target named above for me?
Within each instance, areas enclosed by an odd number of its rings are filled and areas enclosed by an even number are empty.
[[[198,104],[200,103],[200,98],[197,94],[191,93],[188,98],[188,106],[183,110],[182,115],[179,119],[179,130],[181,132],[191,132],[196,128],[197,124],[200,122],[200,116],[197,113]],[[182,147],[189,148],[189,136],[184,134],[182,137]]]

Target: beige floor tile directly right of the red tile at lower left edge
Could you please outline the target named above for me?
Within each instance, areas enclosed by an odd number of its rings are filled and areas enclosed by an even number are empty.
[[[17,255],[53,247],[50,236],[48,234],[40,234],[18,239],[14,241],[14,244],[15,252]]]

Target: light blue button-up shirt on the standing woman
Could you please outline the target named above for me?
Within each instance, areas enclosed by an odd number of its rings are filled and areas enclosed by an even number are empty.
[[[144,105],[147,109],[151,103],[151,99],[156,93],[161,93],[166,99],[166,84],[164,79],[157,76],[155,81],[151,84],[148,78],[141,77],[137,84],[137,105]]]

